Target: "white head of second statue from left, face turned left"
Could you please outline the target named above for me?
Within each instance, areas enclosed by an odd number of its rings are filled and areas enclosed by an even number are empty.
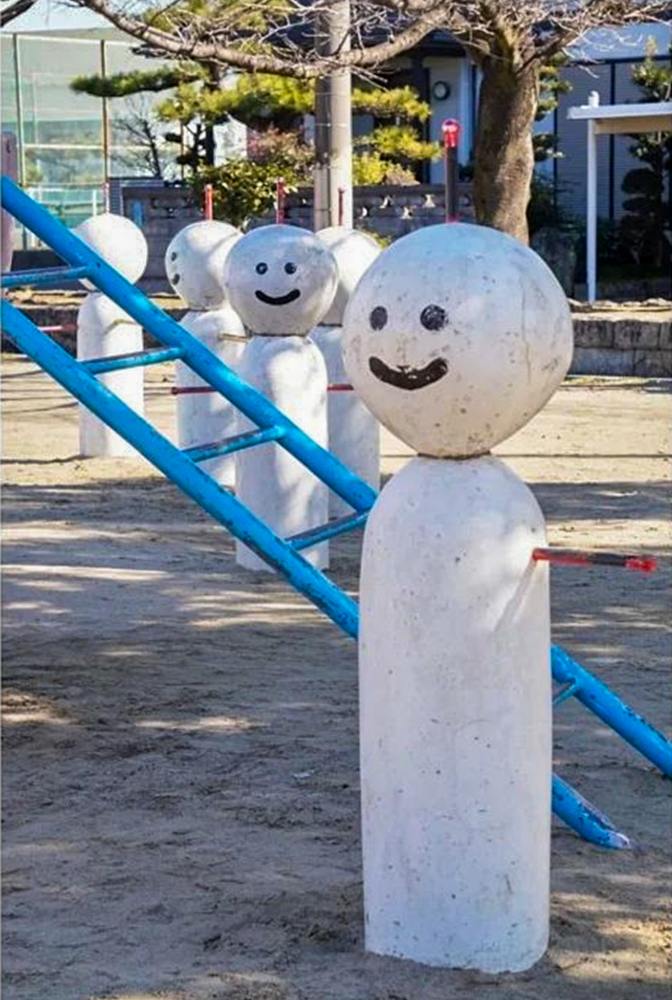
[[[213,219],[185,226],[172,238],[166,275],[190,309],[217,309],[226,301],[224,263],[239,237],[235,226]]]

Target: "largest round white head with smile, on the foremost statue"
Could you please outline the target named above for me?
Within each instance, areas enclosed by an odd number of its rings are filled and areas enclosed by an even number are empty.
[[[416,451],[489,451],[551,397],[572,357],[555,276],[495,229],[450,223],[398,240],[345,311],[343,356],[371,412]]]

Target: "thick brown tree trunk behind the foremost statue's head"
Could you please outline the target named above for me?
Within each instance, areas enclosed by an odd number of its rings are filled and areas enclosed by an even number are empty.
[[[476,219],[527,243],[539,70],[536,64],[516,70],[510,56],[497,52],[482,70],[474,147]]]

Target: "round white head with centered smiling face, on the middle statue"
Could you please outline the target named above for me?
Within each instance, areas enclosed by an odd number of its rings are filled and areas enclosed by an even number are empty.
[[[253,333],[307,334],[336,291],[338,269],[314,233],[296,226],[263,226],[238,240],[227,257],[224,285]]]

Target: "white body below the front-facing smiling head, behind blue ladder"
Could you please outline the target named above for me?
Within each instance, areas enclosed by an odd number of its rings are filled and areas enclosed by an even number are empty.
[[[327,371],[318,348],[306,337],[254,336],[240,361],[240,376],[264,394],[324,448],[327,446]],[[255,429],[239,414],[238,431]],[[324,483],[278,444],[236,453],[236,495],[280,535],[315,528],[328,519]],[[329,563],[323,542],[302,555],[320,569]],[[236,559],[247,569],[270,567],[247,546],[236,542]]]

